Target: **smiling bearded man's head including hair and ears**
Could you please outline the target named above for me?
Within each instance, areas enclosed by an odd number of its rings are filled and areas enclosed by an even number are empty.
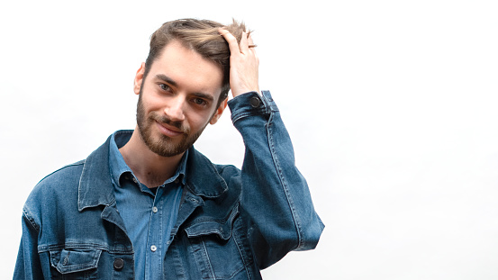
[[[137,71],[134,92],[139,95],[140,138],[159,156],[182,154],[226,107],[231,53],[220,27],[209,21],[179,20],[163,24],[152,35],[149,58]],[[233,23],[231,29],[241,37],[244,26]]]

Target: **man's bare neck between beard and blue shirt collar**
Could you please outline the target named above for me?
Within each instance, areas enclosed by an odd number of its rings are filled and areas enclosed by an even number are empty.
[[[168,178],[175,175],[178,164],[184,153],[174,157],[161,157],[151,151],[140,139],[138,129],[133,131],[131,139],[119,151],[124,162],[140,180],[149,188],[162,185]]]

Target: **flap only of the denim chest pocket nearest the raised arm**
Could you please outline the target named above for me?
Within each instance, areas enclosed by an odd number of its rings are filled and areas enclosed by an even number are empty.
[[[215,220],[195,220],[185,229],[186,236],[189,238],[204,235],[216,234],[221,239],[228,240],[231,238],[231,226],[233,220],[239,213],[239,207],[235,207],[226,221]]]

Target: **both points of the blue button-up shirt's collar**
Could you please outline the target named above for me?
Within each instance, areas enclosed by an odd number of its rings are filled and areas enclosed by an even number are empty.
[[[131,174],[133,176],[133,172],[131,168],[128,167],[124,158],[122,158],[122,154],[119,151],[128,141],[131,139],[131,134],[133,131],[115,131],[113,135],[111,135],[111,140],[109,142],[109,172],[111,178],[113,180],[114,185],[120,185],[121,176],[124,174]],[[186,183],[186,159],[188,158],[188,150],[180,160],[180,164],[177,167],[177,172],[174,176],[171,176],[164,182],[163,185],[171,183],[175,181],[177,178],[181,180],[182,185]]]

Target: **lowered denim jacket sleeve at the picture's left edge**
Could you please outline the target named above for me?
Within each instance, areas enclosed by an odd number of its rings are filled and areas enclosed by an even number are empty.
[[[23,236],[14,267],[14,280],[43,279],[38,254],[38,225],[32,220],[26,207],[23,209]]]

